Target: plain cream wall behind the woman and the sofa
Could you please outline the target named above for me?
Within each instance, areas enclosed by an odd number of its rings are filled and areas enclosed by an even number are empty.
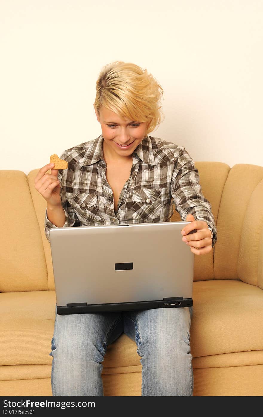
[[[256,0],[1,0],[0,169],[28,174],[99,136],[95,83],[115,60],[164,89],[151,136],[263,166],[262,18]]]

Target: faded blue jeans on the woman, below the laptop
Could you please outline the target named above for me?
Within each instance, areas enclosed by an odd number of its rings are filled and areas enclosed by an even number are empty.
[[[53,396],[103,396],[107,346],[123,332],[137,345],[143,396],[193,395],[193,307],[57,314],[50,356]]]

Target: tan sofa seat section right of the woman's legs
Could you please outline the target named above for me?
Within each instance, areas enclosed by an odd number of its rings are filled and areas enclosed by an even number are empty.
[[[193,283],[193,357],[263,349],[263,290],[238,280]]]

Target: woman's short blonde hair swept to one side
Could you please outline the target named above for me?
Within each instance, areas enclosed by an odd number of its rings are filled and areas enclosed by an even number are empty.
[[[122,118],[146,122],[147,136],[163,121],[161,96],[163,88],[146,69],[115,61],[100,71],[94,106],[98,112],[104,106]]]

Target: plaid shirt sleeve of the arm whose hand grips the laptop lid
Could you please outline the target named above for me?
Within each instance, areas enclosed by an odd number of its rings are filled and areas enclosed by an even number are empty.
[[[185,148],[182,150],[180,156],[176,156],[177,163],[172,175],[172,203],[175,204],[175,210],[180,214],[182,221],[186,221],[187,215],[192,214],[195,220],[203,220],[211,227],[213,248],[217,241],[217,229],[211,205],[203,196],[200,176],[193,159]]]

